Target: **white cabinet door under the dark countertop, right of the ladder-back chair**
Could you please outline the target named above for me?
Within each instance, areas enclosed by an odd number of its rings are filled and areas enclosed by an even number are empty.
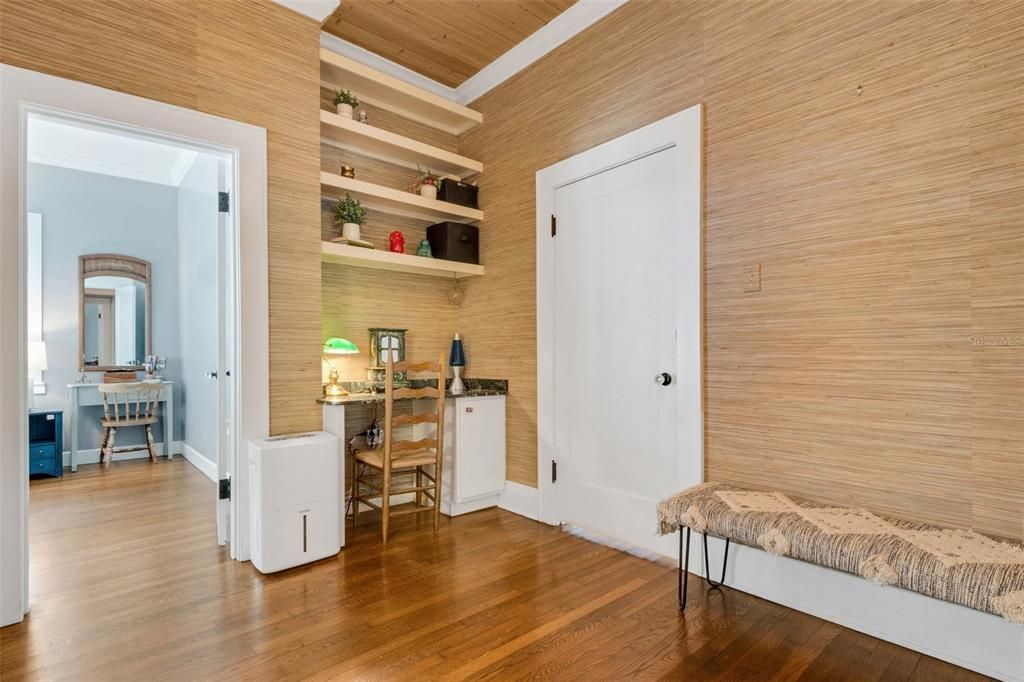
[[[455,497],[466,502],[505,488],[505,396],[455,402]]]

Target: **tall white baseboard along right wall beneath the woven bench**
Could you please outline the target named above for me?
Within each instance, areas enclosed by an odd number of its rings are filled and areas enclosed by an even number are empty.
[[[693,534],[690,572],[703,574]],[[725,543],[709,538],[711,572],[721,576]],[[1024,681],[1024,626],[916,592],[879,587],[797,559],[730,545],[726,586],[1000,680]],[[690,590],[707,589],[690,581]]]

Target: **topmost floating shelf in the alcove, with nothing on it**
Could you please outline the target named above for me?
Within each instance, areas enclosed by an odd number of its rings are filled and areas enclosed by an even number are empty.
[[[321,48],[321,83],[346,88],[368,104],[453,135],[483,123],[483,115],[365,65]]]

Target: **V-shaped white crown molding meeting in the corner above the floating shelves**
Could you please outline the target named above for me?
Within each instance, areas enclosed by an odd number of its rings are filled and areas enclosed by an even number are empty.
[[[423,88],[460,104],[479,98],[548,52],[582,33],[626,4],[628,0],[579,0],[574,5],[538,29],[521,43],[501,55],[478,74],[457,88],[418,74],[412,69],[354,45],[347,40],[321,31],[321,47],[354,59],[361,65],[398,78],[410,85]]]

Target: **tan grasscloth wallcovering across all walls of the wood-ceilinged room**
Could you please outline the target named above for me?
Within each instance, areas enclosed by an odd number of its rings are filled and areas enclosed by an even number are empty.
[[[319,425],[323,331],[429,327],[427,350],[458,325],[471,374],[511,380],[509,476],[536,483],[534,172],[702,101],[708,478],[1018,539],[1022,34],[1010,0],[634,0],[475,102],[487,275],[463,307],[375,273],[334,317],[326,272],[322,328],[316,27],[269,2],[0,0],[4,62],[267,129],[274,432]]]

